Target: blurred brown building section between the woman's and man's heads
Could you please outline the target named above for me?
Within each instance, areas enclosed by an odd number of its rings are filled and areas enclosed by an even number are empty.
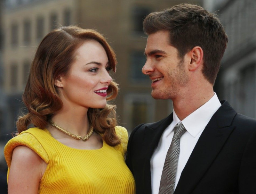
[[[141,71],[146,61],[143,53],[147,38],[142,31],[142,21],[150,12],[181,2],[184,1],[80,1],[78,6],[84,10],[79,14],[79,25],[98,29],[117,53],[117,73],[113,77],[120,84],[120,92],[114,103],[117,104],[120,125],[129,133],[138,124],[160,120],[172,112],[170,100],[151,97],[151,81]]]

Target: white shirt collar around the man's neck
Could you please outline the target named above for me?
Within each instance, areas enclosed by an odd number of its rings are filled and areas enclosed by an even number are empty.
[[[197,110],[192,112],[185,119],[183,119],[182,124],[186,128],[187,132],[190,133],[190,135],[196,137],[197,134],[199,134],[201,130],[206,127],[211,117],[219,107],[221,107],[221,103],[219,102],[217,94],[214,92],[213,97]],[[181,120],[179,120],[175,111],[173,111],[173,124],[177,125],[180,121]]]

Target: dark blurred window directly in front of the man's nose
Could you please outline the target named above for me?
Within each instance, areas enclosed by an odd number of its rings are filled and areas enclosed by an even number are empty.
[[[131,53],[130,77],[134,82],[148,81],[148,76],[142,73],[142,67],[145,65],[146,58],[143,51],[133,51]]]

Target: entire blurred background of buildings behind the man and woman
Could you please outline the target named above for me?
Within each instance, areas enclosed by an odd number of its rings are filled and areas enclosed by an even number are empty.
[[[229,43],[214,90],[244,115],[256,118],[256,0],[0,0],[0,194],[7,193],[3,147],[16,132],[21,96],[35,49],[59,26],[93,28],[107,37],[118,59],[119,125],[131,130],[172,112],[170,100],[151,97],[145,63],[143,18],[188,2],[219,15]]]

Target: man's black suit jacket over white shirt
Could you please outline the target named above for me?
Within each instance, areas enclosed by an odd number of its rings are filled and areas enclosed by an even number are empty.
[[[174,194],[256,194],[256,120],[238,114],[226,101],[221,103],[195,145]],[[126,163],[137,194],[151,193],[150,159],[172,121],[173,113],[137,126],[130,135]]]

